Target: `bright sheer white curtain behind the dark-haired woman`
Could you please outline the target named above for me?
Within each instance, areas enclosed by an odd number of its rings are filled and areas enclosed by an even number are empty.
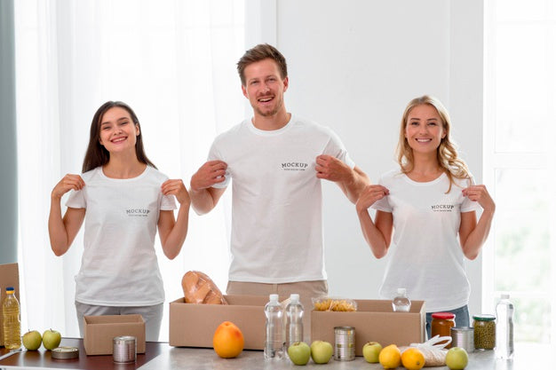
[[[79,335],[75,280],[83,230],[53,255],[47,230],[52,187],[80,173],[96,109],[123,100],[138,114],[146,152],[171,178],[191,175],[212,139],[240,122],[235,62],[244,48],[242,0],[18,0],[15,2],[22,330]],[[65,204],[67,197],[62,199]],[[229,263],[228,207],[192,211],[187,240],[169,261],[155,246],[168,302],[187,270],[222,289]],[[117,246],[115,246],[117,248]]]

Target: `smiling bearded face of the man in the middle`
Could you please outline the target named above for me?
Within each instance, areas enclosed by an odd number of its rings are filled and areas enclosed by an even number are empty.
[[[283,93],[288,90],[288,77],[282,79],[273,59],[263,59],[245,67],[243,95],[248,98],[256,115],[271,117],[285,113]]]

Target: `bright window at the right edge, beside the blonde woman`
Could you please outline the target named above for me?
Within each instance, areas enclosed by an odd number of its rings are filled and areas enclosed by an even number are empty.
[[[515,305],[515,342],[556,339],[556,7],[486,2],[485,182],[496,193],[483,310]]]

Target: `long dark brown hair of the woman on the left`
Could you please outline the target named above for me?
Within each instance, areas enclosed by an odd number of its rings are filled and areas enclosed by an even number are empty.
[[[100,123],[102,122],[102,117],[107,113],[107,110],[118,106],[125,109],[131,116],[131,121],[139,127],[139,119],[131,106],[123,103],[122,101],[107,101],[102,106],[97,109],[97,112],[92,117],[91,122],[91,133],[89,135],[89,146],[87,146],[87,152],[85,153],[85,158],[83,159],[83,172],[90,171],[91,169],[96,169],[99,166],[103,166],[110,161],[110,153],[107,149],[100,145]],[[137,136],[137,141],[135,142],[135,154],[137,159],[141,163],[145,163],[149,166],[156,168],[153,162],[149,161],[147,154],[145,154],[145,149],[143,148],[143,136],[141,135],[141,130],[139,130],[139,135]]]

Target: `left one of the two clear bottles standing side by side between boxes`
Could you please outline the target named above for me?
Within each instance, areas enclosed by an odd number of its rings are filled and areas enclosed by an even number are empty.
[[[266,342],[265,358],[283,358],[283,318],[282,304],[278,302],[278,295],[270,295],[270,300],[265,306],[266,315]]]

